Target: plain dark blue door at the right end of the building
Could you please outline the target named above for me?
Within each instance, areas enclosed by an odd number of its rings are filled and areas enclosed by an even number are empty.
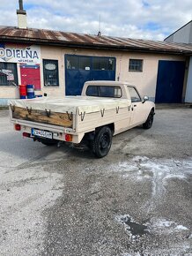
[[[185,62],[159,61],[156,103],[181,103]]]

